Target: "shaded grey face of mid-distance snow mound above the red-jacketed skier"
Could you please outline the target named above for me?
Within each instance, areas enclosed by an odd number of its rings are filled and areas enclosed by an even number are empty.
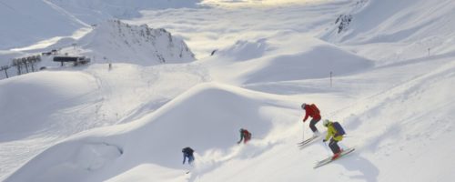
[[[262,59],[261,59],[262,60]],[[365,70],[373,63],[333,45],[314,47],[292,55],[265,58],[266,64],[258,64],[247,73],[244,83],[278,82],[352,74]]]

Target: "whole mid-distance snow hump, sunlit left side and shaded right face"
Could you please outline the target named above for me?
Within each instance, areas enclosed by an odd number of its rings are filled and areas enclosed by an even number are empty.
[[[301,42],[306,44],[301,45]],[[288,46],[298,47],[298,50],[291,51]],[[238,41],[217,54],[219,56],[207,60],[215,62],[209,65],[216,64],[212,76],[239,84],[325,78],[330,76],[330,72],[341,76],[373,66],[370,60],[334,45],[296,35],[272,36],[256,43]],[[232,81],[233,78],[235,81]]]

